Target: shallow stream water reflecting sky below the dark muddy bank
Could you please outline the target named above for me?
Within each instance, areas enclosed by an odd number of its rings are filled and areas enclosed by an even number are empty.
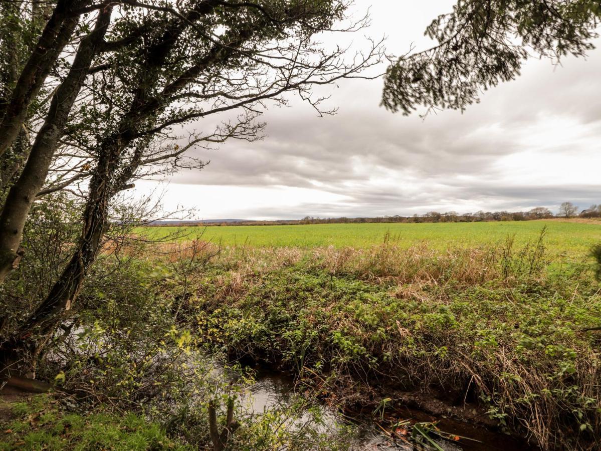
[[[215,367],[213,367],[215,368]],[[222,367],[221,367],[222,368]],[[256,383],[250,393],[243,399],[243,408],[251,413],[260,414],[263,411],[288,401],[295,393],[294,378],[281,372],[255,367]],[[337,425],[353,425],[357,434],[353,434],[351,446],[353,450],[382,450],[382,451],[534,451],[525,440],[510,437],[500,432],[489,431],[480,425],[467,422],[431,416],[415,408],[403,407],[387,412],[389,420],[393,417],[401,426],[386,428],[380,425],[379,418],[371,412],[346,415],[340,411],[325,407],[325,423],[329,429]],[[389,421],[385,422],[390,424]],[[438,432],[428,432],[432,423]],[[425,426],[430,425],[430,426]],[[338,426],[339,427],[339,426]],[[413,429],[422,428],[424,435],[412,437]],[[387,430],[389,429],[389,430]],[[415,435],[415,432],[413,433]],[[429,438],[426,438],[427,435]]]

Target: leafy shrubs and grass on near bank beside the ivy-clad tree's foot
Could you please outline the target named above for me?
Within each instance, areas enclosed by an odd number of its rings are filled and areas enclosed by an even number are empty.
[[[49,262],[32,258],[41,249],[31,243],[37,252],[22,268],[43,286],[52,277],[44,271]],[[169,263],[154,250],[147,259],[127,249],[106,249],[72,319],[37,356],[35,378],[50,381],[55,393],[2,401],[0,449],[347,449],[351,431],[326,417],[315,396],[291,394],[254,411],[255,372],[203,352],[177,295],[213,252],[188,260],[169,253]],[[55,258],[62,256],[57,250]],[[22,282],[5,284],[5,295],[32,292]],[[4,308],[2,333],[10,336],[28,312]]]

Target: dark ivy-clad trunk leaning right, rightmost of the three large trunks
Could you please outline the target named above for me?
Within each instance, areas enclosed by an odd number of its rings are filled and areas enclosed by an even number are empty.
[[[129,111],[122,118],[115,133],[107,136],[99,145],[97,151],[99,160],[90,181],[90,190],[84,211],[84,226],[75,252],[43,303],[19,328],[17,334],[0,347],[0,358],[3,351],[6,356],[10,356],[4,359],[5,362],[8,362],[7,365],[16,362],[17,357],[26,365],[34,363],[81,291],[85,277],[99,253],[104,233],[109,225],[109,201],[115,193],[126,187],[127,179],[141,164],[139,157],[133,158],[126,168],[121,168],[118,172],[120,166],[123,165],[122,152],[136,139],[137,127],[163,107],[160,98],[151,95],[160,68],[175,46],[178,36],[185,31],[183,25],[194,20],[200,14],[209,13],[214,6],[200,2],[198,7],[185,17],[185,20],[175,22],[166,29],[159,42],[148,50],[147,59],[140,70],[143,80],[139,83]],[[197,70],[200,71],[201,66]],[[0,371],[2,371],[1,365]]]

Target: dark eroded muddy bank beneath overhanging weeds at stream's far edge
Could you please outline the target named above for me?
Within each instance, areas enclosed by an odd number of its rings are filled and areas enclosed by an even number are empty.
[[[346,417],[359,422],[367,420],[373,423],[373,413],[383,411],[389,420],[380,422],[383,426],[408,418],[415,419],[415,422],[440,422],[451,426],[448,432],[454,432],[453,435],[465,435],[460,433],[463,431],[483,437],[485,440],[481,441],[489,443],[489,447],[481,448],[483,450],[491,449],[493,443],[500,443],[507,450],[540,450],[519,423],[506,419],[507,425],[500,425],[492,419],[486,408],[477,402],[470,386],[466,386],[465,390],[434,384],[421,387],[404,383],[407,381],[404,377],[382,380],[369,368],[364,368],[361,374],[350,372],[326,383],[329,379],[326,370],[321,375],[304,372],[304,377],[299,378],[290,365],[276,356],[263,354],[256,359],[248,355],[234,356],[231,354],[230,358],[254,369],[260,380],[282,380],[290,390],[305,391],[308,395],[320,393],[325,404],[336,405]],[[370,383],[365,383],[365,380],[370,380]],[[382,410],[383,405],[385,408]],[[379,425],[375,427],[380,428]]]

